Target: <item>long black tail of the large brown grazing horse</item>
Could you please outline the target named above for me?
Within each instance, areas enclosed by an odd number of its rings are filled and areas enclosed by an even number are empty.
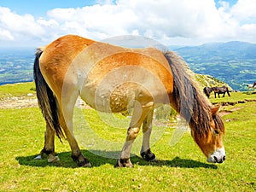
[[[61,140],[61,137],[64,138],[64,134],[59,123],[58,104],[53,91],[50,90],[39,68],[39,58],[43,51],[44,49],[42,48],[37,49],[34,61],[34,81],[37,90],[38,106],[41,108],[46,125],[50,129],[55,130],[57,137]]]

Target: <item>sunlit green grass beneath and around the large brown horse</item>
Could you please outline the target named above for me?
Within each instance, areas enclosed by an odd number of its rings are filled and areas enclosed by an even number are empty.
[[[30,87],[29,84],[25,90]],[[15,95],[15,90],[12,91]],[[235,96],[231,93],[225,101]],[[232,99],[240,100],[240,96]],[[171,146],[173,127],[154,126],[153,139],[159,138],[152,151],[159,161],[142,160],[139,148],[135,147],[131,158],[134,168],[122,169],[114,168],[115,159],[96,155],[98,152],[115,156],[121,148],[87,148],[88,143],[81,144],[83,139],[95,136],[103,138],[102,143],[108,140],[122,144],[128,120],[119,115],[116,118],[121,119],[120,125],[108,125],[93,110],[76,110],[75,134],[81,134],[80,146],[93,165],[84,168],[73,162],[68,143],[60,143],[58,139],[55,150],[61,161],[50,164],[47,160],[34,160],[44,145],[45,125],[38,108],[0,109],[0,191],[255,191],[256,102],[239,103],[224,110],[234,108],[240,109],[224,116],[227,160],[223,164],[208,164],[189,132]],[[94,135],[86,135],[86,128]],[[101,147],[100,140],[96,143]]]

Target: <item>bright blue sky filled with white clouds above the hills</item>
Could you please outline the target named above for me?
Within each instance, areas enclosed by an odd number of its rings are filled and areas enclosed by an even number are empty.
[[[0,0],[0,46],[37,47],[66,34],[166,46],[256,43],[255,10],[255,0]]]

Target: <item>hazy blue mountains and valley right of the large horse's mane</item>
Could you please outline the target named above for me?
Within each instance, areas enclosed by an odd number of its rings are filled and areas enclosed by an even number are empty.
[[[232,41],[174,50],[195,73],[211,75],[234,90],[256,81],[256,44]]]

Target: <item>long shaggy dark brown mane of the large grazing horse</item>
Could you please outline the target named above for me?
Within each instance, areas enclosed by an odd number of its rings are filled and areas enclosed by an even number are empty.
[[[186,119],[198,137],[206,137],[211,130],[209,123],[212,120],[211,102],[199,89],[187,63],[172,51],[163,54],[172,69],[174,80],[172,95],[177,112]],[[213,120],[217,128],[222,130],[224,125],[218,114],[213,116]]]

